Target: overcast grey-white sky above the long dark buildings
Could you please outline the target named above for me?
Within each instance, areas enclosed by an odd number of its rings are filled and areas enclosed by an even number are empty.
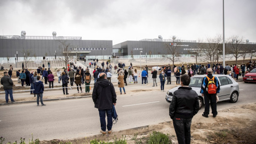
[[[256,42],[256,1],[225,0],[225,37]],[[197,40],[222,34],[222,0],[0,1],[0,35],[81,36],[113,40]]]

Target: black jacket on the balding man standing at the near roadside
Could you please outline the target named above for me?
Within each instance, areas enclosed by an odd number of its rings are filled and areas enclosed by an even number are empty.
[[[100,79],[94,84],[92,100],[95,108],[112,109],[113,103],[116,103],[116,92],[113,84],[107,79]]]

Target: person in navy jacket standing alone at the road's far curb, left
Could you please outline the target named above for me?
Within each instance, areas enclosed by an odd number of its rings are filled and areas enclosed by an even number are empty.
[[[37,77],[37,81],[35,82],[35,94],[37,95],[36,102],[37,106],[39,106],[39,98],[42,106],[46,106],[43,103],[43,92],[44,92],[44,84],[41,80],[41,77]]]

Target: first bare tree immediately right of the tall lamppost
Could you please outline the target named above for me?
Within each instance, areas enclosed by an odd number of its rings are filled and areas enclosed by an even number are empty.
[[[237,59],[241,57],[244,46],[243,37],[232,36],[229,39],[231,39],[232,41],[227,44],[227,50],[229,54],[235,57],[237,64]]]

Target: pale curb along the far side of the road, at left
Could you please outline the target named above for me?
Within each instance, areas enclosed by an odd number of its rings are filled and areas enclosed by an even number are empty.
[[[68,100],[68,99],[81,99],[81,98],[90,98],[92,95],[86,95],[86,96],[80,96],[80,97],[68,97],[68,98],[56,98],[56,99],[44,99],[43,101],[55,101],[55,100]],[[31,101],[17,101],[17,102],[12,102],[11,105],[13,104],[20,104],[20,103],[33,103],[37,102],[36,100],[31,100]],[[7,106],[10,105],[10,103],[0,103],[0,106]]]

